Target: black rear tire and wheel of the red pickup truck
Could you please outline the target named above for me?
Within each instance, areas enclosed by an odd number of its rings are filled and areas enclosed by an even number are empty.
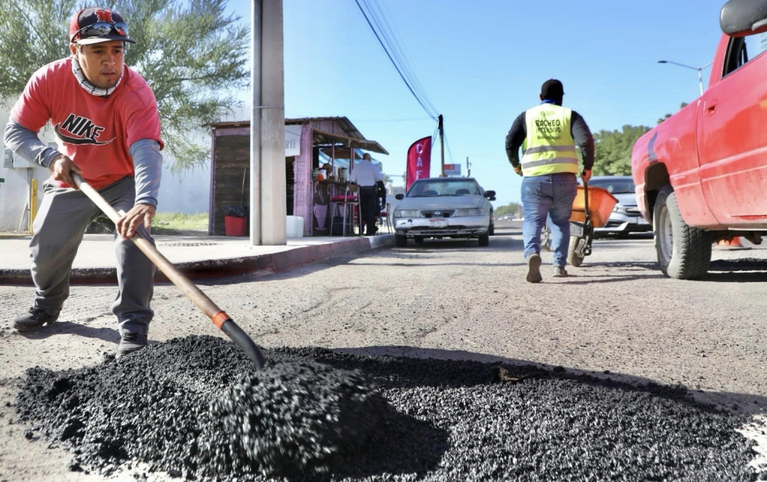
[[[653,210],[655,251],[660,271],[679,280],[697,280],[709,271],[711,234],[684,222],[670,185],[658,193]]]

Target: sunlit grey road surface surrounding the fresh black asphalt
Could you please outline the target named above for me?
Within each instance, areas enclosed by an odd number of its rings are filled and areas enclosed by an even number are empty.
[[[411,241],[407,248],[200,287],[270,349],[320,346],[354,356],[532,365],[631,385],[681,386],[726,412],[755,421],[764,414],[767,250],[715,249],[709,277],[693,282],[663,277],[647,235],[599,239],[581,267],[568,267],[568,278],[551,277],[551,255],[542,254],[544,282],[527,284],[518,223],[496,229],[489,248],[476,241]],[[12,402],[25,369],[77,369],[114,352],[113,299],[114,287],[76,287],[60,323],[21,336],[9,322],[28,307],[31,290],[0,287],[8,314],[0,324],[0,405]],[[219,336],[172,285],[156,287],[153,307],[154,342]],[[0,420],[15,416],[12,406],[0,407]],[[0,480],[107,480],[67,471],[71,454],[44,439],[28,441],[24,430],[14,423],[0,432]],[[118,471],[109,480],[133,476]]]

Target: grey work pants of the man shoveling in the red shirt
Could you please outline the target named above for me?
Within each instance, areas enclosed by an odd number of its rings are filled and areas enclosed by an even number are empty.
[[[69,297],[69,274],[85,228],[100,210],[86,195],[75,189],[64,189],[50,180],[43,184],[43,199],[33,228],[35,234],[29,244],[32,260],[32,280],[35,281],[35,307],[51,311],[61,310]],[[117,211],[130,211],[136,198],[136,184],[132,176],[125,177],[99,190]],[[137,235],[149,239],[149,230],[143,223]],[[146,335],[154,312],[150,301],[154,291],[154,264],[130,239],[114,234],[117,254],[117,299],[112,313],[123,333]]]

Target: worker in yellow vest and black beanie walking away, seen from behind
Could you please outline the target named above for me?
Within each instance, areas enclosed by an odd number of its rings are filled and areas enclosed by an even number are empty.
[[[581,179],[591,179],[594,165],[594,137],[586,121],[574,110],[562,107],[565,89],[556,79],[541,86],[541,103],[512,123],[506,136],[506,156],[522,179],[522,238],[525,241],[526,279],[540,283],[541,231],[549,219],[551,264],[555,277],[566,277],[570,244],[570,215]],[[522,147],[522,160],[519,148]],[[580,154],[580,156],[579,156]],[[578,160],[582,159],[582,169]]]

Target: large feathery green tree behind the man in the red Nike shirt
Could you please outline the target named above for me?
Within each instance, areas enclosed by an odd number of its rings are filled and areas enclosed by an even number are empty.
[[[81,0],[82,1],[82,0]],[[89,4],[90,5],[90,4]],[[203,166],[209,147],[195,142],[202,125],[238,106],[247,87],[249,28],[224,15],[226,0],[104,2],[126,19],[126,64],[150,84],[175,171]],[[77,0],[16,0],[0,4],[0,98],[12,100],[39,67],[69,55],[68,29]]]

